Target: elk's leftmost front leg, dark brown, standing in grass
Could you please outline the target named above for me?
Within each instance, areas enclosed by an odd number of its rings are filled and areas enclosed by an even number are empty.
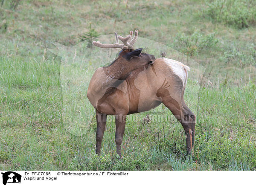
[[[100,148],[104,131],[106,128],[107,115],[96,110],[97,131],[96,131],[96,154],[100,154]]]

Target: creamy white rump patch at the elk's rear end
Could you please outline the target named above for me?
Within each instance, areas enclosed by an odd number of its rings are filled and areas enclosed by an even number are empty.
[[[189,71],[190,68],[188,66],[184,65],[183,63],[181,63],[179,61],[175,61],[173,59],[164,58],[163,60],[167,64],[167,66],[172,69],[172,71],[175,73],[175,75],[180,77],[180,79],[182,80],[183,85],[184,85],[186,82],[185,70]]]

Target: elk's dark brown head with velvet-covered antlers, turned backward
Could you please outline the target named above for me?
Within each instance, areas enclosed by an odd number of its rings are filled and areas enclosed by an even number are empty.
[[[115,61],[119,61],[121,63],[127,63],[133,70],[142,67],[147,64],[153,64],[155,61],[155,56],[151,54],[147,54],[142,52],[142,48],[135,49],[133,48],[134,43],[138,38],[138,30],[135,30],[134,38],[132,38],[133,32],[131,31],[126,38],[123,38],[120,35],[115,33],[116,43],[115,44],[101,44],[99,41],[93,41],[95,46],[101,48],[120,48],[122,49],[119,52],[118,58]],[[123,44],[119,44],[119,40],[122,41]]]

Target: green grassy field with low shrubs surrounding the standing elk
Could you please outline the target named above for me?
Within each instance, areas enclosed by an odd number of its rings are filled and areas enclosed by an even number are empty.
[[[152,119],[172,116],[164,105],[129,116],[122,160],[110,116],[94,154],[87,86],[117,50],[90,43],[135,29],[137,46],[160,57],[164,45],[192,69],[185,101],[197,115],[194,156],[176,119]],[[0,46],[0,169],[256,170],[253,0],[1,0]]]

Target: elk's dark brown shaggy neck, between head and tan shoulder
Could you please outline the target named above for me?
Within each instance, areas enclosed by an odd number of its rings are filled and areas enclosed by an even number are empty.
[[[103,67],[103,70],[105,74],[112,79],[125,80],[131,71],[134,70],[134,67],[127,61],[114,61],[109,66]]]

